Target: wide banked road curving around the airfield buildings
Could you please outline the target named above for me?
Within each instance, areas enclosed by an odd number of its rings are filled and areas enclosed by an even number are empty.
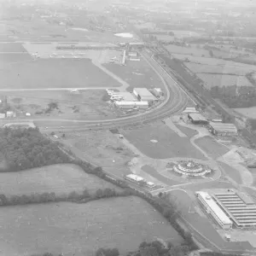
[[[146,113],[131,115],[119,119],[105,120],[74,120],[74,119],[16,119],[18,121],[33,121],[35,125],[43,128],[49,126],[48,131],[55,130],[63,126],[63,131],[67,130],[85,130],[85,129],[109,129],[111,127],[124,127],[127,125],[146,124],[157,119],[163,119],[173,113],[183,109],[187,102],[188,96],[181,90],[179,85],[168,75],[158,63],[152,60],[148,53],[143,53],[143,58],[154,69],[155,73],[160,76],[166,87],[166,100],[158,108],[152,108]],[[156,84],[157,85],[157,84]],[[43,128],[44,129],[44,128]]]

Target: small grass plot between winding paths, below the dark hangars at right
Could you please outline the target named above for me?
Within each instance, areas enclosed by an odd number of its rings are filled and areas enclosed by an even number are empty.
[[[217,143],[212,137],[208,136],[196,139],[195,143],[213,159],[217,159],[230,151],[229,148]]]

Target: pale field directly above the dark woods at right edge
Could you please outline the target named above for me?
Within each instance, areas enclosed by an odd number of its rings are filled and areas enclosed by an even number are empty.
[[[245,76],[213,74],[213,73],[197,73],[197,76],[202,79],[208,89],[214,86],[225,87],[236,85],[237,87],[248,86],[252,87],[253,84]]]

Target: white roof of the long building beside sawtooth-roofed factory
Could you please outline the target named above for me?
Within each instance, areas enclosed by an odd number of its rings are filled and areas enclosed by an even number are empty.
[[[204,191],[197,191],[196,194],[201,195],[201,198],[206,202],[207,206],[218,216],[223,224],[232,224],[230,218],[218,207],[218,204],[212,199],[211,195]]]

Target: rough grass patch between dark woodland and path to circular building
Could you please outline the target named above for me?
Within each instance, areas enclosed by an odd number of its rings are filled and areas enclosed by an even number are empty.
[[[130,173],[127,163],[135,155],[110,131],[77,131],[65,134],[66,139],[62,142],[77,155],[99,166],[108,167],[113,174],[120,176]]]

